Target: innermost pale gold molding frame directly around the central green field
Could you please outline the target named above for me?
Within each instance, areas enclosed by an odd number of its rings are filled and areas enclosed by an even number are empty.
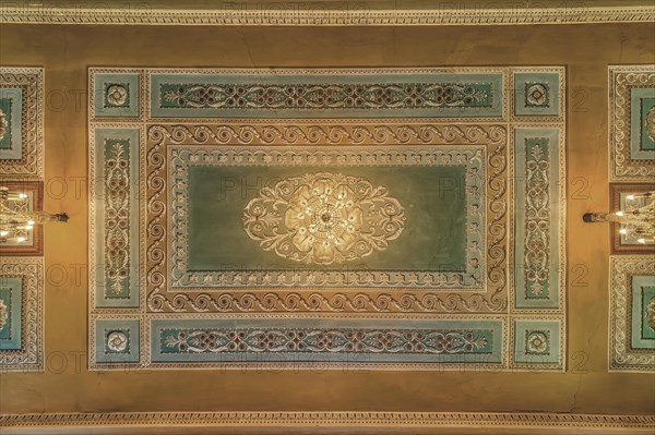
[[[155,126],[156,128],[156,126]],[[434,125],[439,132],[442,128]],[[448,126],[446,126],[448,129]],[[215,136],[213,137],[215,140]],[[176,147],[171,143],[166,144],[168,149],[168,207],[165,217],[168,220],[168,240],[169,256],[168,262],[168,285],[176,288],[289,288],[289,287],[312,287],[312,288],[456,288],[479,290],[485,287],[486,268],[486,210],[487,210],[487,190],[486,168],[487,146],[486,145],[455,145],[452,147],[402,147],[394,145],[386,148],[366,149],[362,147],[345,147],[324,145],[321,148],[312,147],[219,147],[216,144],[210,146],[198,145],[193,148],[188,146]],[[225,159],[225,162],[221,161]],[[344,164],[338,164],[343,159]],[[462,160],[465,159],[465,164]],[[267,160],[267,161],[266,161]],[[283,160],[281,162],[278,160]],[[315,278],[310,279],[306,274],[299,274],[298,270],[276,268],[275,270],[263,269],[255,271],[227,270],[188,270],[189,256],[189,231],[188,213],[178,213],[178,209],[187,210],[188,190],[189,190],[189,167],[249,167],[249,166],[269,166],[293,168],[294,166],[319,166],[334,165],[341,170],[348,167],[366,166],[405,166],[405,167],[451,167],[464,165],[467,177],[465,178],[467,210],[473,205],[480,206],[479,212],[467,212],[465,228],[466,245],[473,243],[480,247],[477,250],[466,250],[465,269],[457,271],[431,271],[431,270],[407,270],[416,277],[409,279],[404,274],[394,270],[367,270],[361,269],[357,273],[325,273],[320,268],[311,269],[310,273]],[[475,174],[473,174],[475,173]],[[480,180],[481,179],[481,180]],[[478,189],[483,188],[483,189]],[[473,228],[473,229],[471,229]],[[153,243],[150,243],[153,245]],[[476,264],[476,267],[472,266]],[[367,274],[368,273],[368,274]],[[264,280],[264,275],[271,274],[270,280]],[[364,278],[364,275],[370,278]],[[266,282],[266,283],[264,283]]]

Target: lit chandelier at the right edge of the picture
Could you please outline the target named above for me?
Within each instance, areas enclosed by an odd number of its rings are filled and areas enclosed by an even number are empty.
[[[655,191],[626,196],[633,204],[615,213],[586,213],[585,222],[617,222],[619,233],[631,235],[638,243],[655,243]]]

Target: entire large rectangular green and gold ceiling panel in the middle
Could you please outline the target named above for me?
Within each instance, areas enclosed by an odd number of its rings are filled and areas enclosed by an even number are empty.
[[[92,368],[563,370],[562,68],[90,83]]]

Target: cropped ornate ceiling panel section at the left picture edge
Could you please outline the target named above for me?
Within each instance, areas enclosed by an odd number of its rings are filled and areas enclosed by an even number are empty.
[[[0,372],[44,368],[43,227],[4,231],[8,215],[43,209],[43,121],[44,70],[0,67]]]

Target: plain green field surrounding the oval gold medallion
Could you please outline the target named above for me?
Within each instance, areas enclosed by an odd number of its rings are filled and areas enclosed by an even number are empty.
[[[315,269],[264,251],[243,229],[262,186],[287,177],[332,172],[384,185],[405,208],[401,235],[384,251],[330,269],[465,270],[465,167],[189,167],[189,270]]]

